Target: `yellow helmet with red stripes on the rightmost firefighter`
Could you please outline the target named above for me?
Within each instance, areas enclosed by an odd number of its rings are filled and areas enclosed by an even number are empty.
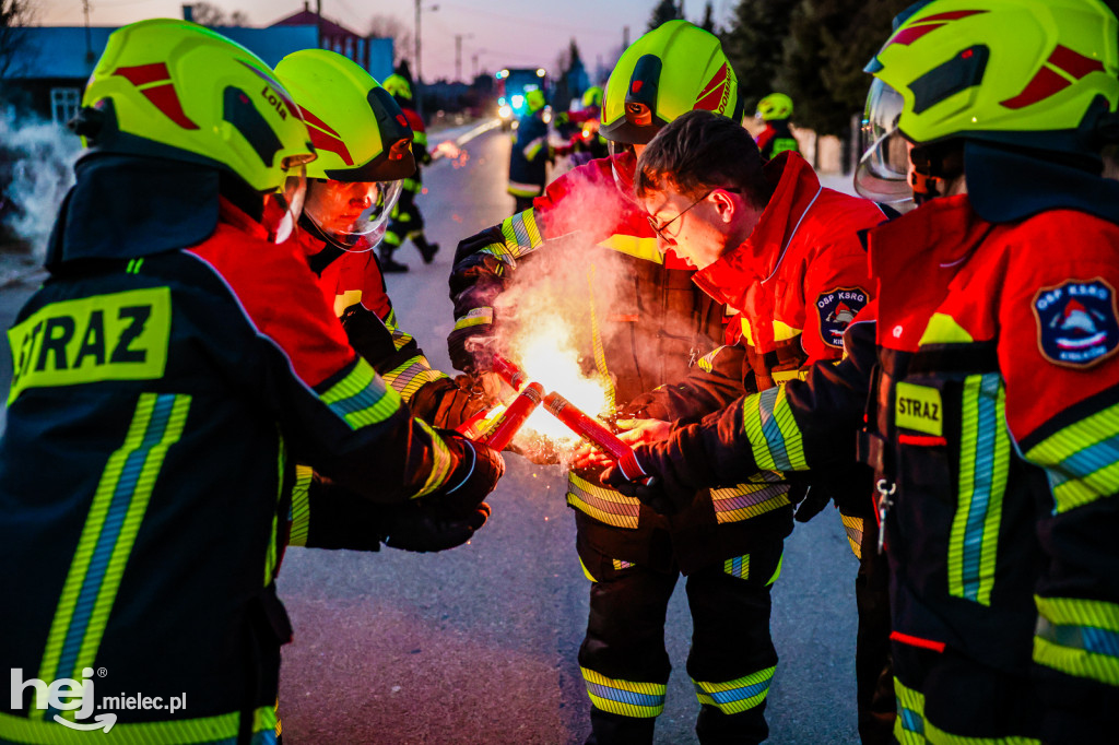
[[[896,28],[866,72],[900,94],[895,125],[913,142],[1079,150],[1083,138],[1053,133],[1075,134],[1116,111],[1117,32],[1099,0],[935,0]]]

